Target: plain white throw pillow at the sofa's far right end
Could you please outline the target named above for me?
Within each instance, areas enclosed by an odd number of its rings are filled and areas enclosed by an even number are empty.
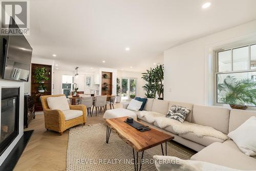
[[[227,135],[247,156],[256,156],[256,117],[252,116]]]

